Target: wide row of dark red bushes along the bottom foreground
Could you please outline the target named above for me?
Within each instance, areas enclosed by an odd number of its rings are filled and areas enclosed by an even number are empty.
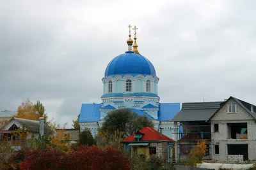
[[[60,150],[35,150],[26,155],[20,169],[86,169],[111,170],[131,168],[129,158],[115,148],[100,150],[97,146],[80,146],[77,151],[66,154]]]

